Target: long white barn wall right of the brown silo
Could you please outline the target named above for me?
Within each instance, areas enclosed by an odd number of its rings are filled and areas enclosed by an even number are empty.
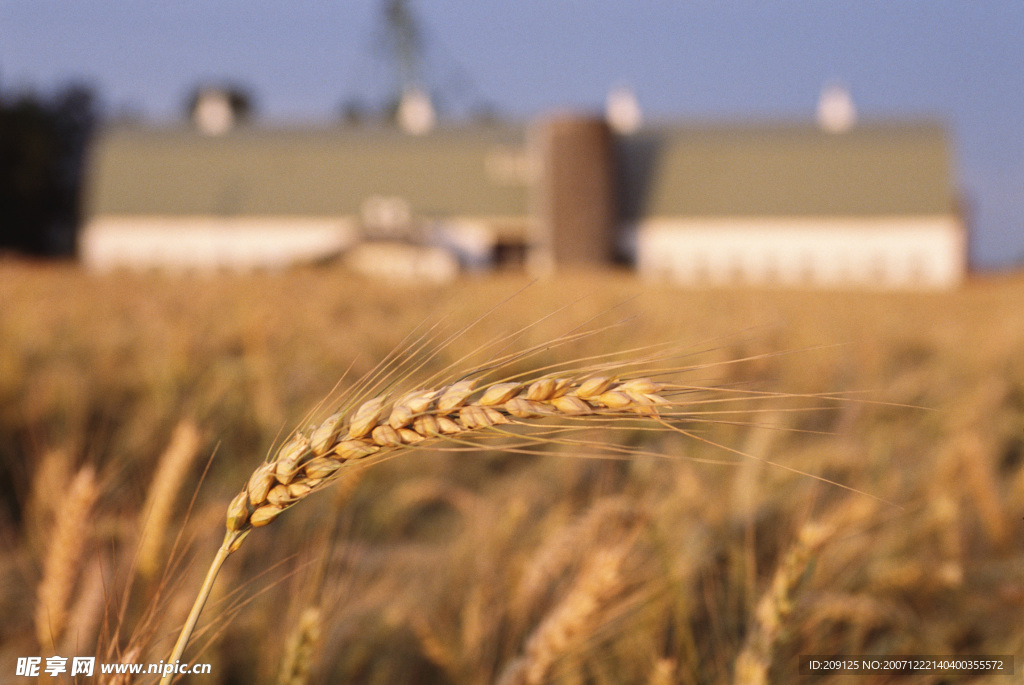
[[[966,275],[965,232],[949,216],[660,218],[635,230],[651,281],[946,289]]]

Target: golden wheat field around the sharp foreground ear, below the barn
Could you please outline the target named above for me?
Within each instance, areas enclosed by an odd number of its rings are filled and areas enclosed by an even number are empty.
[[[168,658],[228,504],[296,428],[381,386],[359,379],[432,388],[496,359],[516,379],[671,374],[678,422],[542,416],[346,464],[248,531],[184,653],[210,674],[177,682],[1013,680],[801,676],[801,655],[1024,669],[1020,277],[414,287],[3,262],[0,682],[29,682],[29,656]]]

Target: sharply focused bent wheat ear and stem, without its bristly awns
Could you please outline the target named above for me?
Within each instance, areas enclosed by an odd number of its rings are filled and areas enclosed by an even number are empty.
[[[545,376],[529,383],[478,386],[464,379],[394,401],[378,396],[340,411],[311,430],[296,432],[256,468],[227,508],[227,530],[168,663],[180,659],[220,566],[253,528],[337,480],[346,469],[439,439],[471,439],[506,424],[549,417],[657,418],[669,408],[667,386],[646,378]],[[165,677],[161,683],[169,683]]]

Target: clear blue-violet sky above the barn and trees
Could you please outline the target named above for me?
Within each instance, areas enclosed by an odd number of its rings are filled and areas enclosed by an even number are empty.
[[[393,89],[374,0],[0,0],[0,89],[93,86],[106,113],[180,116],[202,82],[264,121],[327,122]],[[597,110],[810,119],[826,82],[861,119],[948,125],[983,267],[1024,262],[1022,0],[412,0],[426,83],[452,113]]]

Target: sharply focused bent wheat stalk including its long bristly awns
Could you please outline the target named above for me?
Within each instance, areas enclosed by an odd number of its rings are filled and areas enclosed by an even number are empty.
[[[723,415],[726,421],[743,422],[749,420],[749,410],[721,410],[715,404],[763,399],[775,393],[716,388],[718,396],[708,398],[699,394],[707,390],[705,387],[654,380],[707,368],[681,368],[672,363],[678,351],[674,346],[641,347],[575,359],[570,365],[538,369],[529,376],[519,374],[490,380],[498,370],[508,369],[513,362],[522,361],[556,345],[577,342],[597,332],[570,333],[552,343],[498,356],[485,367],[458,376],[454,382],[436,385],[427,382],[421,389],[398,394],[394,386],[422,370],[454,338],[426,354],[426,359],[418,357],[418,354],[428,350],[432,342],[430,338],[423,336],[411,342],[407,340],[408,357],[404,360],[399,361],[396,354],[385,358],[378,371],[366,377],[353,391],[357,399],[343,404],[305,430],[293,433],[282,447],[253,471],[231,500],[223,542],[167,662],[181,658],[217,573],[254,528],[273,522],[282,513],[313,493],[330,486],[344,474],[406,454],[412,448],[443,441],[449,448],[454,444],[455,448],[461,445],[475,449],[487,437],[515,436],[520,442],[505,445],[506,451],[532,453],[544,445],[561,444],[586,451],[589,455],[601,449],[608,456],[635,457],[649,453],[635,447],[578,440],[570,433],[595,420],[606,427],[614,426],[613,422],[625,421],[630,428],[636,428],[640,420],[652,424],[654,429],[678,431],[687,437],[723,447],[726,453],[748,457],[695,435],[681,427],[681,423],[711,419],[721,421]],[[509,342],[510,339],[500,339],[484,349],[494,349]],[[659,367],[662,363],[666,366]],[[644,373],[637,371],[640,369]],[[400,378],[396,379],[396,376]],[[707,406],[698,411],[694,406],[697,402]],[[545,426],[547,429],[543,429]],[[532,433],[513,430],[520,427],[542,430]],[[754,459],[801,475],[811,475],[763,458]],[[845,487],[826,478],[811,477]],[[161,683],[170,681],[171,676],[166,676]]]

